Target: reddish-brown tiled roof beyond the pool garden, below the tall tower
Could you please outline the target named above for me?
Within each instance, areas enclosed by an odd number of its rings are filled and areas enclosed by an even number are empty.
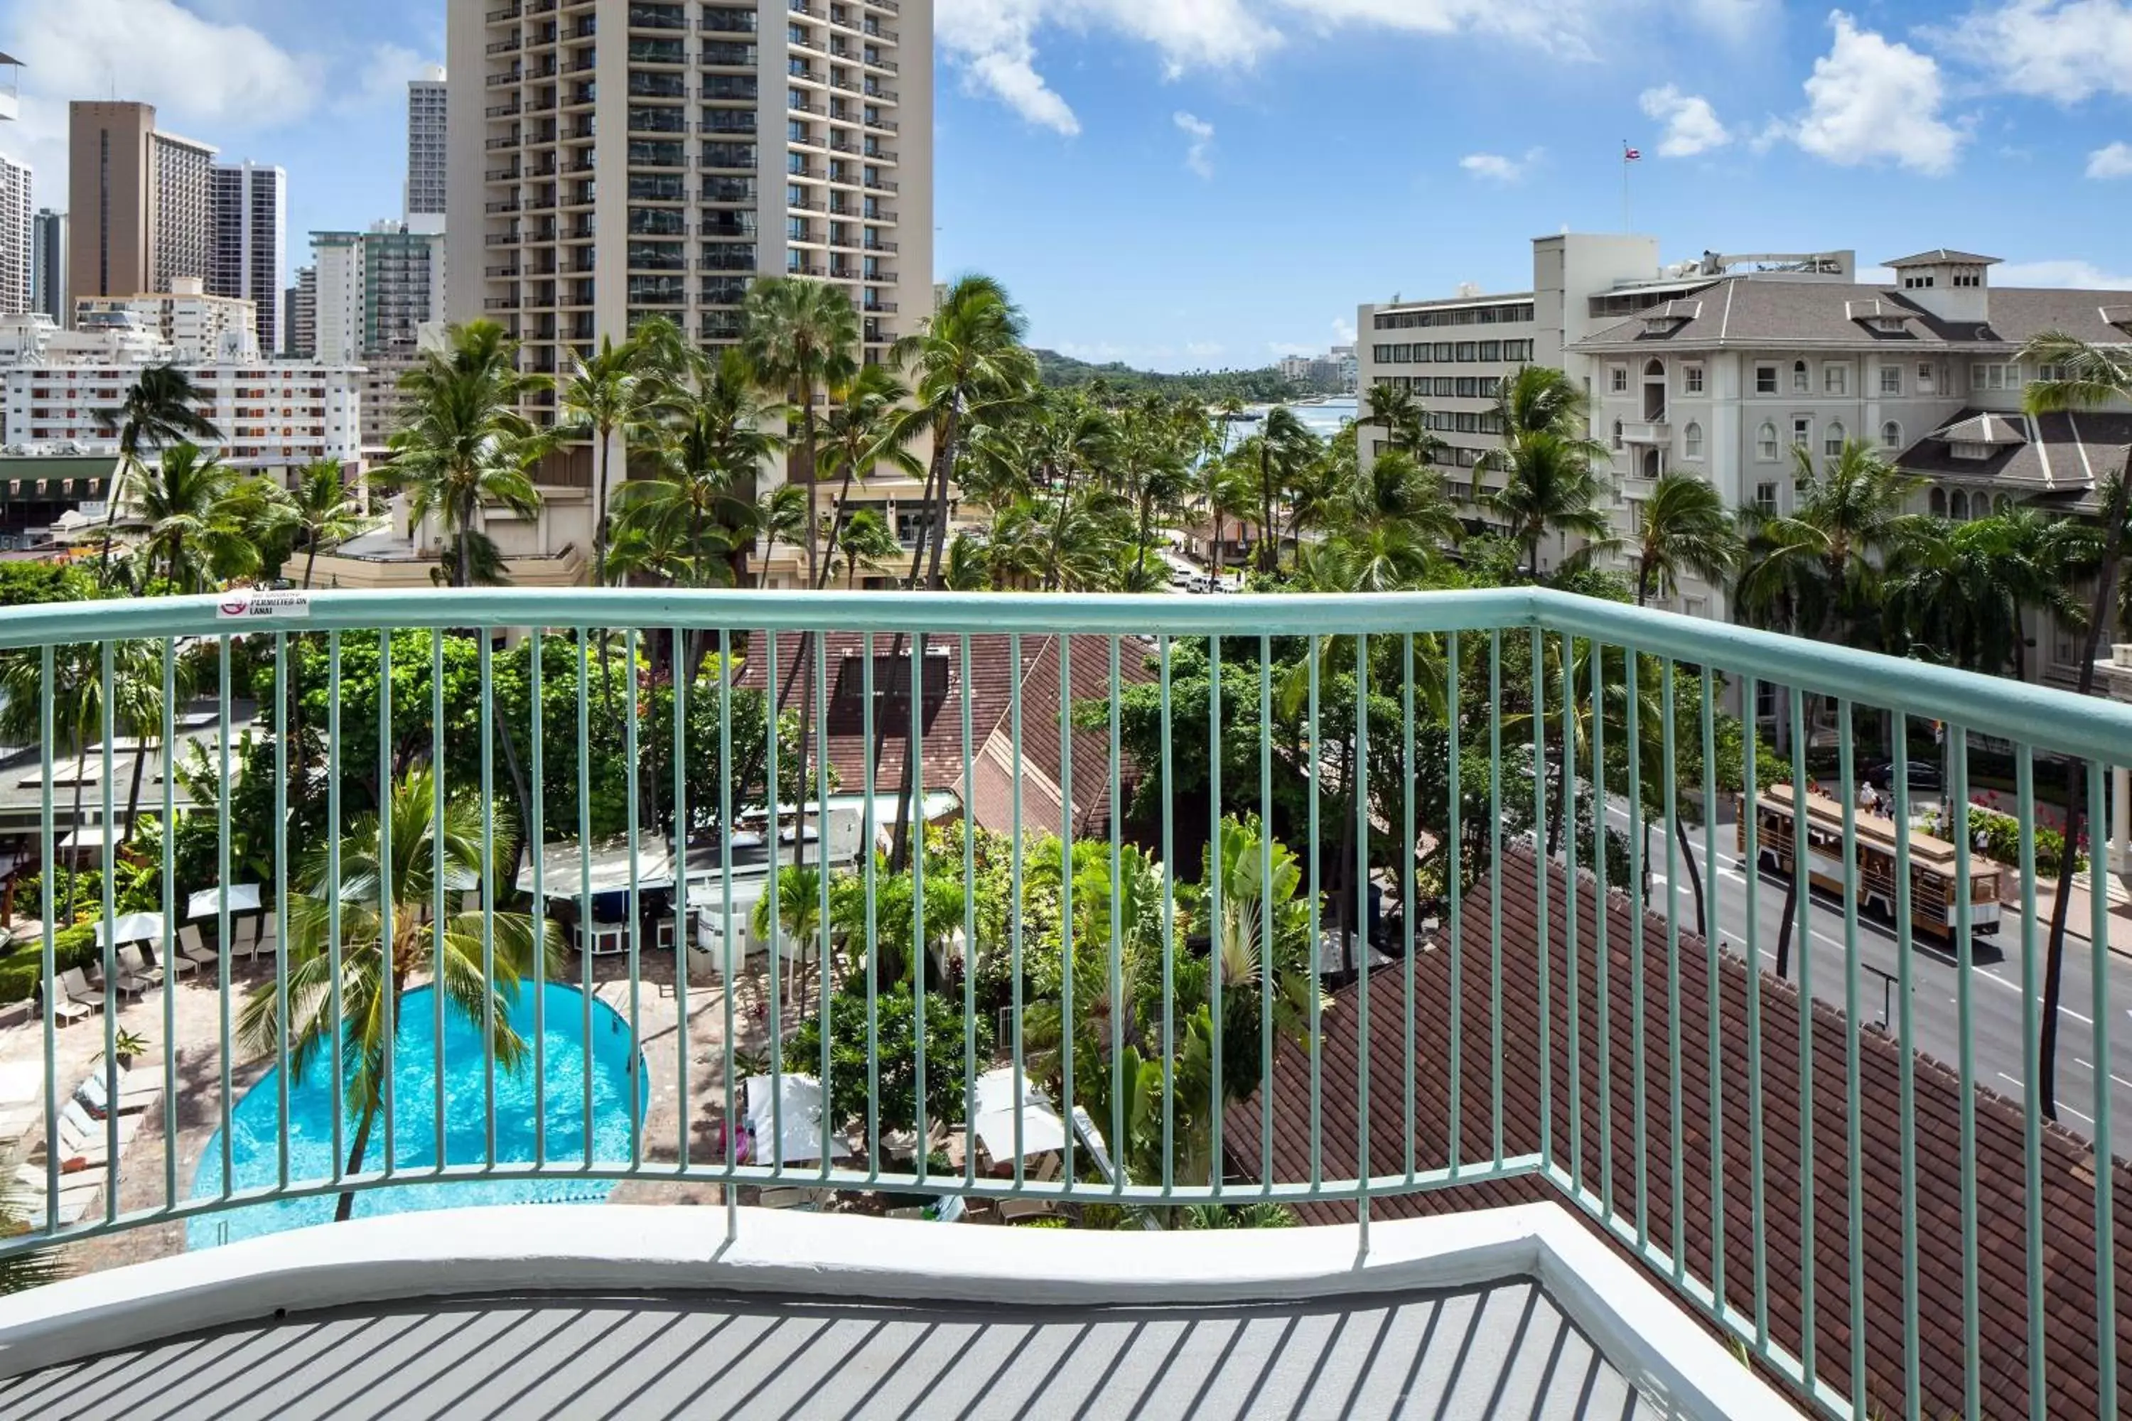
[[[1025,831],[1060,833],[1064,810],[1060,805],[1060,784],[1064,778],[1060,756],[1060,637],[1023,635],[1019,660],[1015,639],[1004,633],[976,633],[968,637],[970,658],[964,663],[962,635],[930,635],[925,639],[923,667],[923,741],[921,763],[925,788],[951,788],[964,797],[976,822],[985,829],[1006,833],[1013,827],[1013,775],[1023,778],[1021,820]],[[740,686],[761,690],[768,667],[768,637],[750,633],[748,656],[742,663]],[[866,639],[861,633],[823,633],[827,654],[825,677],[829,686],[829,714],[817,722],[827,724],[829,763],[836,767],[840,786],[859,790],[866,775],[870,741],[857,707],[861,697],[861,667]],[[883,665],[898,641],[893,633],[874,633],[872,650],[876,658],[874,692],[876,701],[887,701],[891,709],[883,716],[876,709],[874,735],[883,737],[881,761],[874,771],[874,790],[893,793],[904,773],[904,748],[908,737],[908,701],[883,697],[889,671]],[[942,654],[944,652],[944,654]],[[785,692],[793,658],[800,654],[800,633],[778,633],[776,637],[776,690]],[[902,641],[902,656],[908,658],[910,639]],[[1111,701],[1111,641],[1109,637],[1072,637],[1066,652],[1072,673],[1070,701]],[[1147,650],[1126,639],[1117,656],[1119,682],[1134,684],[1151,680]],[[812,684],[812,673],[806,673]],[[979,771],[974,786],[962,782],[962,695],[964,682],[970,688],[970,752]],[[1008,737],[1013,716],[1013,688],[1021,682],[1021,761],[1013,756]],[[840,695],[842,686],[842,695]],[[793,682],[785,707],[800,705],[802,684]],[[889,720],[883,726],[883,720]],[[1128,761],[1119,767],[1121,786],[1130,788],[1138,775]],[[1107,731],[1072,733],[1072,820],[1077,833],[1100,833],[1109,829],[1111,812],[1111,737]]]

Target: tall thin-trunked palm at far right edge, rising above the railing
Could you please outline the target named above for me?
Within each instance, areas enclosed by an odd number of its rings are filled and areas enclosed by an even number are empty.
[[[2132,401],[2132,352],[2121,345],[2089,345],[2070,334],[2045,332],[2021,347],[2021,364],[2053,369],[2053,379],[2038,379],[2021,396],[2032,415],[2096,409]],[[2096,571],[2096,601],[2087,618],[2087,646],[2081,652],[2081,673],[2074,684],[2083,697],[2096,690],[2096,656],[2102,635],[2117,622],[2117,577],[2126,543],[2128,499],[2132,499],[2132,460],[2106,484],[2102,511],[2102,558]],[[2081,839],[2085,793],[2085,761],[2066,761],[2066,852],[2057,863],[2057,897],[2051,901],[2051,937],[2042,971],[2042,1080],[2038,1082],[2042,1112],[2057,1118],[2057,999],[2066,971],[2066,910],[2072,901],[2072,846]],[[2100,837],[2100,835],[2098,835]],[[2091,852],[2100,852],[2096,846]]]

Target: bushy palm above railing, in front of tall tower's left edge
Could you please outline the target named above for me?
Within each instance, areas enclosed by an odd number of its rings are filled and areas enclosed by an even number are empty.
[[[409,409],[392,435],[386,477],[405,490],[409,522],[437,516],[443,541],[456,548],[450,584],[461,588],[473,584],[473,545],[463,535],[475,530],[482,509],[539,509],[531,469],[552,435],[535,430],[516,405],[546,381],[520,375],[512,358],[501,326],[471,322],[452,330],[446,352],[426,352],[401,377]]]

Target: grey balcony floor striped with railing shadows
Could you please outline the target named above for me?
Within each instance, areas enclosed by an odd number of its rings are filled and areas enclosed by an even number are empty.
[[[1194,1308],[414,1300],[0,1383],[6,1417],[1654,1417],[1531,1280]]]

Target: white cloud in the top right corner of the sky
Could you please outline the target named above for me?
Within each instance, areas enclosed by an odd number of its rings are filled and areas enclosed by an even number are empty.
[[[2013,94],[2066,104],[2132,96],[2132,0],[2006,0],[1936,38]]]

